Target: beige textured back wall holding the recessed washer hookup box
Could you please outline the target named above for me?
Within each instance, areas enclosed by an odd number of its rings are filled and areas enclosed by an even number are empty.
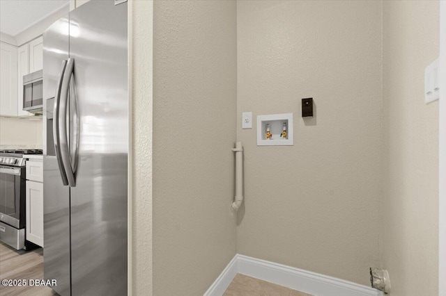
[[[381,16],[380,1],[238,1],[238,253],[369,286],[382,233]],[[306,97],[316,117],[304,121]],[[257,147],[246,111],[293,113],[294,146]]]

